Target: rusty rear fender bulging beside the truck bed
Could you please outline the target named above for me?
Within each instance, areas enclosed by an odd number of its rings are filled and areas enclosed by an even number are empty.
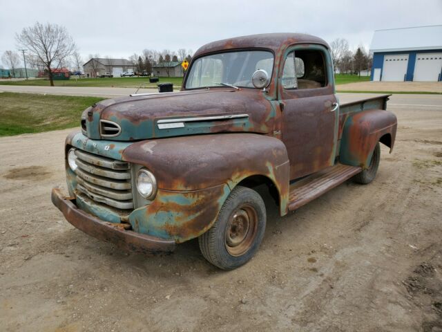
[[[372,109],[355,113],[347,118],[340,140],[340,163],[366,169],[376,143],[390,143],[390,152],[396,138],[397,119],[394,113]],[[390,136],[385,140],[383,136]]]

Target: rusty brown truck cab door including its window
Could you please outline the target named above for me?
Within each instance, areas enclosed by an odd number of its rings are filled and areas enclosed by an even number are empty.
[[[331,59],[322,46],[294,48],[280,77],[282,141],[290,160],[290,179],[334,165],[338,104]]]

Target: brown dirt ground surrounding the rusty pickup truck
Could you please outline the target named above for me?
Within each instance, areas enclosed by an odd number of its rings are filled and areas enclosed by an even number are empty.
[[[376,180],[282,218],[266,197],[260,251],[231,272],[198,241],[146,257],[88,237],[50,203],[68,131],[0,138],[0,330],[442,331],[442,96],[390,104]]]

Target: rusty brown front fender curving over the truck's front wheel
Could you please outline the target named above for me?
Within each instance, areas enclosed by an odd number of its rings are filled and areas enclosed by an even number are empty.
[[[143,165],[157,178],[160,190],[187,192],[227,184],[230,190],[244,178],[266,176],[287,213],[289,158],[285,145],[256,133],[219,133],[146,140],[128,146],[123,160]]]

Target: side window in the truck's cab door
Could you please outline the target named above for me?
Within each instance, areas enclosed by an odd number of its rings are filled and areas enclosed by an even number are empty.
[[[325,59],[320,50],[289,53],[282,72],[284,89],[316,89],[327,85]]]

